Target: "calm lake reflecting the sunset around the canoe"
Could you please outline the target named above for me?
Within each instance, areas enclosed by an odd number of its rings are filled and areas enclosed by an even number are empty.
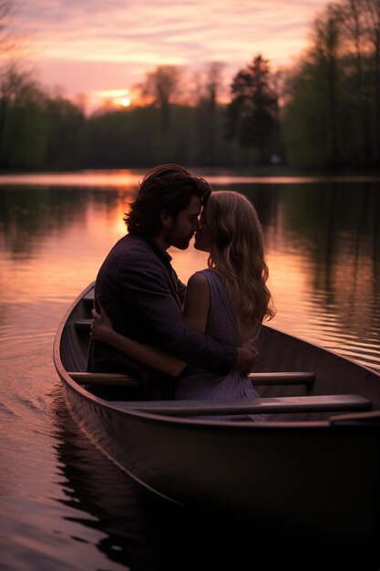
[[[256,550],[244,522],[140,489],[65,407],[56,327],[125,234],[143,174],[0,176],[0,569],[233,568]],[[256,205],[277,309],[271,327],[380,370],[380,177],[198,174]],[[192,245],[170,254],[183,281],[205,266]]]

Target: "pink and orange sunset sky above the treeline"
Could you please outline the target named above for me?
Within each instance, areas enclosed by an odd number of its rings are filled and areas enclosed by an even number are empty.
[[[262,53],[292,63],[327,0],[17,0],[36,77],[67,97],[123,98],[159,65],[218,61],[228,83]],[[120,99],[121,100],[121,99]]]

